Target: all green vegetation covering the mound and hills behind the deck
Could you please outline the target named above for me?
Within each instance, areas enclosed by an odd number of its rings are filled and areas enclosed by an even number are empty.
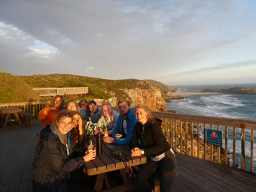
[[[154,83],[156,83],[154,81]],[[159,86],[164,85],[158,82]],[[164,85],[166,86],[166,85]],[[164,87],[163,86],[163,87]],[[79,97],[77,95],[65,95],[65,100],[93,100],[95,98],[107,100],[110,97],[128,98],[123,89],[140,88],[149,90],[142,85],[142,80],[106,80],[101,78],[90,78],[80,75],[50,74],[16,76],[10,73],[0,73],[0,102],[25,102],[42,100],[32,87],[89,87],[89,93]],[[167,86],[168,87],[168,86]],[[49,98],[45,98],[47,100]]]

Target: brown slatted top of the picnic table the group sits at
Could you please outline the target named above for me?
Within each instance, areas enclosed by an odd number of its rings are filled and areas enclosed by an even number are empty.
[[[92,137],[92,142],[96,146],[96,137]],[[107,147],[107,146],[113,147]],[[112,149],[122,151],[122,156],[118,159],[113,158]],[[126,161],[129,161],[129,166],[137,166],[146,163],[146,156],[131,156],[131,149],[128,145],[114,145],[102,142],[102,154],[97,155],[92,161],[85,162],[85,171],[87,175],[97,175],[109,171],[124,169]]]

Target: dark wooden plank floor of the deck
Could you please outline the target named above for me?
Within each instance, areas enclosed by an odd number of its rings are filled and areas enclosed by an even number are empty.
[[[0,127],[0,191],[32,191],[31,168],[39,121],[30,127]],[[256,191],[256,174],[195,157],[176,154],[178,176],[173,191]],[[93,180],[90,176],[82,179]],[[86,182],[92,183],[93,181]],[[86,188],[78,183],[80,191]],[[76,183],[73,183],[73,191]],[[75,190],[76,191],[76,190]]]

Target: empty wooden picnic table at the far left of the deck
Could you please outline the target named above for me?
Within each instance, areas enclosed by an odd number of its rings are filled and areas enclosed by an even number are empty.
[[[18,107],[1,107],[1,124],[3,127],[6,127],[9,122],[18,122],[19,125],[22,125],[19,114],[22,112],[21,108]]]

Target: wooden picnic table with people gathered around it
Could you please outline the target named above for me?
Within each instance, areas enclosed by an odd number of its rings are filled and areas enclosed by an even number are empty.
[[[96,146],[96,137],[91,137],[93,144]],[[122,151],[120,158],[113,158],[111,150]],[[85,162],[84,171],[87,175],[97,175],[95,182],[95,191],[102,190],[102,184],[105,181],[107,188],[110,184],[107,179],[107,172],[119,170],[124,183],[129,183],[127,178],[127,162],[129,166],[137,166],[146,163],[146,156],[131,156],[129,145],[106,144],[102,141],[102,154],[97,155],[92,161]]]

